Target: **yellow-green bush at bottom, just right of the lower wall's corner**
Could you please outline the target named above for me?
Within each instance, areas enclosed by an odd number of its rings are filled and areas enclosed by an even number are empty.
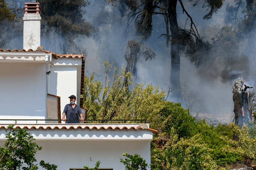
[[[162,140],[166,136],[162,133],[155,140]],[[174,128],[171,129],[167,142],[162,148],[153,147],[152,160],[157,161],[151,164],[154,170],[216,170],[215,161],[209,155],[209,148],[201,144],[201,137],[195,135],[192,138],[178,138]]]

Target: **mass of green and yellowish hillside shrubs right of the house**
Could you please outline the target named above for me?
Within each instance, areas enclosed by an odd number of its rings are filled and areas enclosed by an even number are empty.
[[[180,103],[165,100],[165,92],[152,85],[134,85],[131,73],[114,68],[105,61],[105,85],[94,79],[84,79],[84,107],[88,119],[146,119],[158,130],[151,141],[151,169],[203,170],[218,169],[216,161],[245,161],[251,166],[256,159],[254,126],[240,129],[230,125],[208,125],[197,121]],[[129,81],[125,81],[128,79]],[[132,122],[132,121],[127,121]],[[249,133],[250,132],[250,133]],[[233,140],[237,136],[237,140]]]

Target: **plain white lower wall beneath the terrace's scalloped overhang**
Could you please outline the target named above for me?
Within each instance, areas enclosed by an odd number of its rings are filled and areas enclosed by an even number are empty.
[[[58,170],[83,168],[84,165],[94,167],[101,161],[100,168],[124,170],[119,162],[122,153],[138,153],[150,164],[149,141],[38,141],[43,149],[38,152],[37,160],[57,164]]]

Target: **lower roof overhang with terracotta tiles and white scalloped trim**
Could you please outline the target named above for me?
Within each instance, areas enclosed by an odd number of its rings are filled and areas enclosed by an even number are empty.
[[[0,140],[6,139],[7,124],[0,124]],[[156,130],[149,124],[20,124],[36,140],[150,141]]]

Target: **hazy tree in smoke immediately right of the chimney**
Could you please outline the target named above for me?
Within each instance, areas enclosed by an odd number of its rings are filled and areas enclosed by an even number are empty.
[[[42,15],[41,32],[45,37],[58,33],[58,43],[62,54],[73,52],[85,54],[85,49],[74,40],[80,36],[91,36],[96,29],[83,19],[83,7],[89,5],[87,0],[37,0]],[[64,39],[64,40],[63,40]],[[50,42],[47,41],[46,44]],[[54,41],[52,46],[54,46]],[[51,45],[49,45],[51,47]],[[59,50],[59,49],[58,49]]]

